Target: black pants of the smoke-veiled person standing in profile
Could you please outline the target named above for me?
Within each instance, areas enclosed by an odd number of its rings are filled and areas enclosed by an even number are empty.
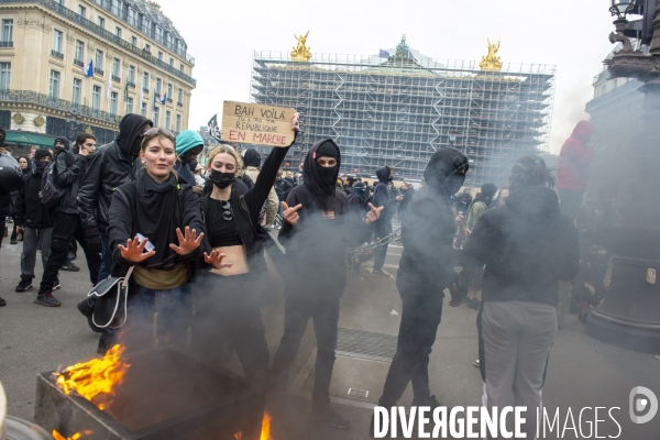
[[[428,397],[429,354],[442,316],[442,290],[429,286],[399,287],[404,302],[396,354],[387,372],[378,405],[395,406],[413,381],[416,398]]]

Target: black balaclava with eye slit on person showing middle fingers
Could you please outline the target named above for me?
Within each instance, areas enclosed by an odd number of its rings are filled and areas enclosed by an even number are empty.
[[[324,167],[317,164],[318,157],[334,157],[337,165]],[[323,139],[309,148],[302,166],[302,182],[314,193],[321,196],[334,194],[339,167],[341,165],[341,154],[339,146],[331,139]]]

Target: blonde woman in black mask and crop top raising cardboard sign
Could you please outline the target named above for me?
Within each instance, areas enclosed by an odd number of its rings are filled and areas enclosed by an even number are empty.
[[[298,113],[293,117],[292,129],[299,130]],[[213,148],[207,162],[213,189],[200,199],[213,251],[205,255],[211,267],[205,274],[204,294],[196,297],[194,350],[217,363],[224,342],[232,342],[245,377],[264,393],[270,378],[268,346],[260,306],[272,285],[264,250],[273,260],[282,252],[260,227],[258,215],[289,148],[273,148],[251,189],[235,185],[240,183],[237,151],[228,145]]]

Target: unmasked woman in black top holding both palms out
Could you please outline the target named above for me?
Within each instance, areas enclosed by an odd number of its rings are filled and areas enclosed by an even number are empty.
[[[147,130],[140,152],[144,168],[136,180],[117,188],[110,205],[112,274],[124,276],[134,266],[129,316],[119,338],[132,351],[152,346],[154,312],[158,341],[184,345],[191,319],[191,263],[201,260],[204,250],[210,252],[199,199],[173,173],[176,157],[173,133]]]

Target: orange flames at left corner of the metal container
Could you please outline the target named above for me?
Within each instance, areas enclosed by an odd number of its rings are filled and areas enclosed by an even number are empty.
[[[124,348],[118,344],[108,350],[102,359],[92,359],[68,366],[62,373],[55,373],[57,385],[67,395],[75,393],[89,402],[100,394],[114,396],[113,386],[121,384],[124,373],[131,366],[120,359],[123,351]],[[106,409],[111,403],[111,398],[103,398],[102,403],[95,405],[99,409]]]

